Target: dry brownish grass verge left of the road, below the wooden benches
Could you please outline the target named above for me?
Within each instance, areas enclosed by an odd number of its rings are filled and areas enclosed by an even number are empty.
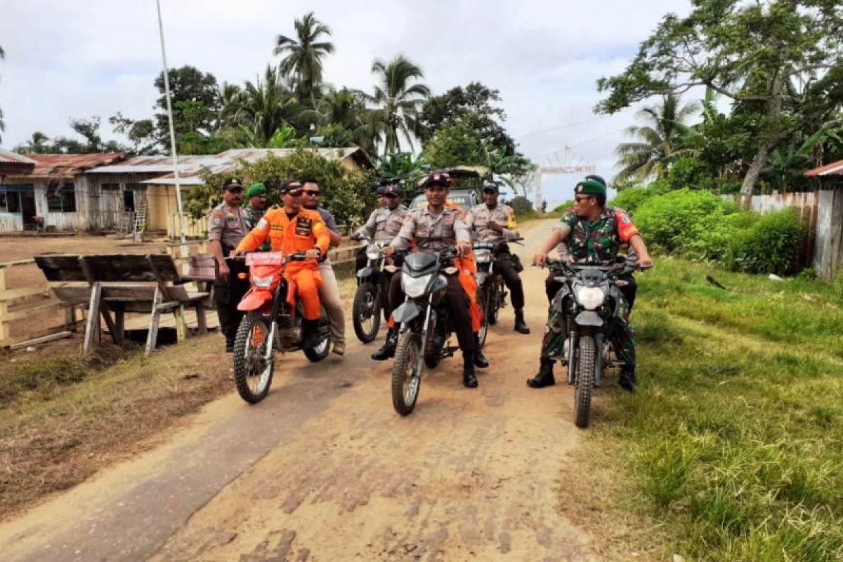
[[[72,343],[4,358],[0,378],[32,374],[37,383],[18,387],[0,410],[3,518],[151,447],[151,436],[232,388],[219,335],[149,358],[111,351],[92,362],[78,360]]]

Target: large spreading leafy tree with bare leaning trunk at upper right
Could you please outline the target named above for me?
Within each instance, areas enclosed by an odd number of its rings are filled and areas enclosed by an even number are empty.
[[[615,113],[695,86],[727,96],[756,123],[745,200],[774,148],[806,120],[840,107],[841,30],[837,0],[693,0],[688,17],[664,17],[624,72],[598,81],[607,97],[595,109]]]

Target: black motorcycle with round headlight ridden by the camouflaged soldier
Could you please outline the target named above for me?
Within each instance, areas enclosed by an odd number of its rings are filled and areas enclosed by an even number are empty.
[[[574,423],[588,427],[591,395],[599,387],[606,369],[623,367],[612,346],[612,335],[620,321],[620,289],[627,281],[619,279],[642,270],[636,263],[618,265],[577,265],[549,260],[562,288],[550,304],[562,313],[566,340],[557,359],[568,367],[568,384],[576,384]]]

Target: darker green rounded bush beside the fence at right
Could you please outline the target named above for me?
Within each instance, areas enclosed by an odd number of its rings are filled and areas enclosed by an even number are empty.
[[[738,230],[729,244],[727,265],[746,273],[793,273],[803,230],[792,209],[762,215],[748,228]]]

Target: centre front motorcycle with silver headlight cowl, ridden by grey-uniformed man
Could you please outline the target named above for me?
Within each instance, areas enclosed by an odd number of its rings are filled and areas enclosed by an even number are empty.
[[[455,257],[453,248],[439,254],[419,252],[407,255],[401,267],[405,301],[392,311],[395,324],[400,325],[392,367],[392,405],[400,415],[409,415],[416,407],[422,362],[434,368],[459,349],[448,345],[454,326],[445,302],[446,276],[457,274]]]

